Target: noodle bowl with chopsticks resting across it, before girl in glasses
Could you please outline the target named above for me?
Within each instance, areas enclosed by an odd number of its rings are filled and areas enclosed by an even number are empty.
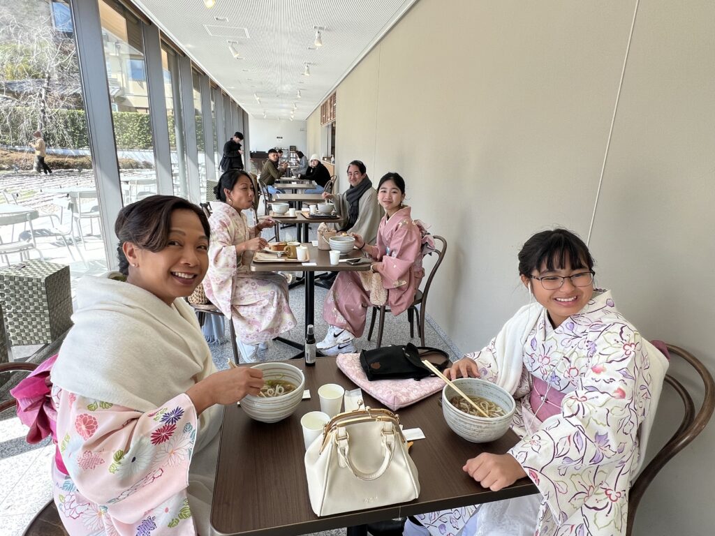
[[[442,415],[453,432],[473,443],[485,443],[503,436],[516,410],[511,394],[485,379],[457,378],[452,382],[489,416],[484,417],[452,387],[445,385]]]

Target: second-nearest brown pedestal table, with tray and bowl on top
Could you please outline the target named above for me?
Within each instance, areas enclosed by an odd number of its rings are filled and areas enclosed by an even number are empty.
[[[317,249],[312,243],[307,242],[302,244],[308,249],[308,261],[307,264],[300,262],[287,262],[279,260],[276,255],[275,262],[256,262],[254,259],[251,262],[251,272],[305,272],[305,330],[303,333],[307,332],[307,327],[309,324],[315,325],[315,272],[360,272],[370,269],[372,265],[371,262],[365,261],[360,264],[347,264],[347,262],[340,262],[337,265],[330,264],[330,252],[326,249]],[[353,249],[347,255],[342,255],[342,259],[355,259],[363,257],[363,252],[359,249]],[[277,337],[281,342],[290,344],[293,347],[304,349],[304,344],[302,342],[292,342]],[[297,357],[302,357],[302,353],[296,354],[293,359]]]

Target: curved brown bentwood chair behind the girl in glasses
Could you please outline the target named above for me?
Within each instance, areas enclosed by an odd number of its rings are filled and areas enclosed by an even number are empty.
[[[715,382],[705,365],[700,362],[693,354],[686,352],[686,350],[681,347],[677,347],[674,344],[665,343],[670,357],[677,356],[680,357],[686,364],[689,364],[695,369],[699,374],[705,388],[703,402],[700,405],[698,412],[695,412],[695,405],[693,402],[693,397],[688,392],[688,389],[678,381],[671,374],[666,374],[664,383],[669,384],[675,392],[679,395],[684,405],[684,415],[683,420],[678,427],[678,430],[670,438],[668,442],[658,451],[656,456],[649,462],[646,467],[641,471],[641,473],[636,478],[633,485],[631,485],[631,491],[628,492],[628,522],[626,525],[626,536],[631,536],[633,534],[633,522],[636,519],[636,509],[638,504],[641,502],[643,495],[648,489],[648,486],[653,482],[658,472],[663,469],[664,465],[668,463],[671,458],[683,450],[686,446],[703,431],[704,427],[707,425],[710,417],[713,414],[715,408]],[[671,364],[673,360],[671,359]],[[676,488],[673,488],[674,490]]]

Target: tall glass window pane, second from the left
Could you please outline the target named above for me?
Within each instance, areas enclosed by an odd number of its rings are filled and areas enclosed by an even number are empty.
[[[142,23],[114,0],[99,0],[99,16],[122,199],[129,204],[157,192]]]

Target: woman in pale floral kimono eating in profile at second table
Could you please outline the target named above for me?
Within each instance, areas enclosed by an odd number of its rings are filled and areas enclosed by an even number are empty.
[[[243,362],[255,362],[258,350],[295,326],[288,302],[285,277],[272,272],[250,272],[254,252],[267,247],[262,229],[275,222],[264,219],[248,227],[242,210],[253,206],[255,192],[249,174],[231,169],[222,174],[212,204],[209,272],[204,279],[206,297],[232,319]]]

